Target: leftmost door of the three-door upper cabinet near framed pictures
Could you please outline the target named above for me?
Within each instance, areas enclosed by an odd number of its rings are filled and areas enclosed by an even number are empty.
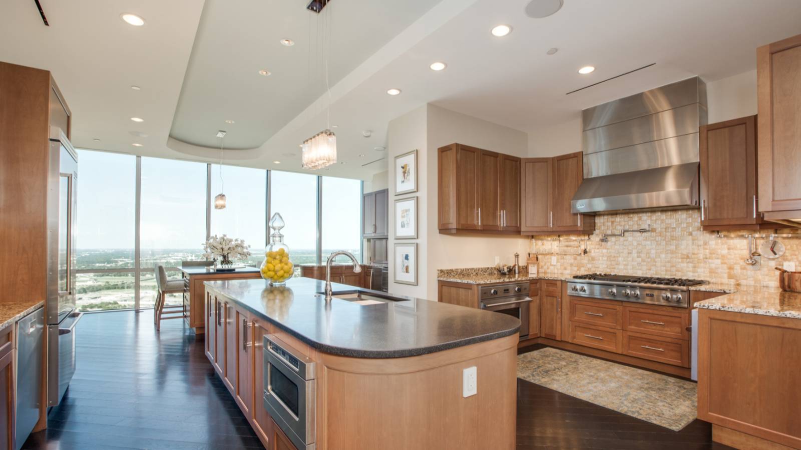
[[[478,230],[478,167],[481,150],[457,144],[456,154],[456,227]]]

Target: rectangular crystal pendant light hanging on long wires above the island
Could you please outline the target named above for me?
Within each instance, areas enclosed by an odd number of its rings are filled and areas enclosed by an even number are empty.
[[[328,2],[324,2],[322,6],[327,6],[327,4]],[[312,9],[312,11],[318,14],[318,18],[320,17],[320,8]],[[336,136],[333,131],[331,131],[331,86],[328,85],[328,56],[331,54],[330,6],[327,11],[328,23],[323,22],[323,34],[326,32],[327,26],[328,36],[320,38],[320,51],[325,54],[325,88],[328,90],[328,110],[326,113],[327,127],[325,127],[325,130],[306,139],[303,144],[300,145],[300,167],[311,171],[336,164]],[[309,33],[311,33],[311,22],[309,22]],[[324,47],[324,42],[328,42],[327,50]],[[311,49],[311,46],[309,46],[309,48]]]

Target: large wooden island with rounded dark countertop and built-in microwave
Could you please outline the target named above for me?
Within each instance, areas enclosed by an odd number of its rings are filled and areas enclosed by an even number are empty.
[[[338,283],[326,303],[308,278],[205,284],[207,357],[265,447],[514,448],[519,320]]]

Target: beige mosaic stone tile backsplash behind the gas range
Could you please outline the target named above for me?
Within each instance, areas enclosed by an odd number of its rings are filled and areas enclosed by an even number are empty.
[[[603,233],[623,228],[648,227],[648,233],[626,233],[601,242]],[[778,238],[787,252],[779,259],[762,258],[759,270],[743,261],[748,256],[749,233],[768,235],[772,230],[702,231],[699,210],[634,212],[597,215],[593,235],[535,236],[530,251],[539,255],[540,275],[562,276],[592,272],[706,279],[712,283],[778,287],[786,261],[801,271],[801,233],[780,229],[798,238]],[[767,238],[757,239],[757,246]],[[757,247],[759,248],[759,247]],[[584,253],[586,250],[586,253]],[[556,263],[551,262],[551,257]]]

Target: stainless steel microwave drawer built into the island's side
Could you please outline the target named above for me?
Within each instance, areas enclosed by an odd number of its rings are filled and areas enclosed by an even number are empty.
[[[264,408],[297,448],[315,448],[314,361],[274,335],[264,336]]]

